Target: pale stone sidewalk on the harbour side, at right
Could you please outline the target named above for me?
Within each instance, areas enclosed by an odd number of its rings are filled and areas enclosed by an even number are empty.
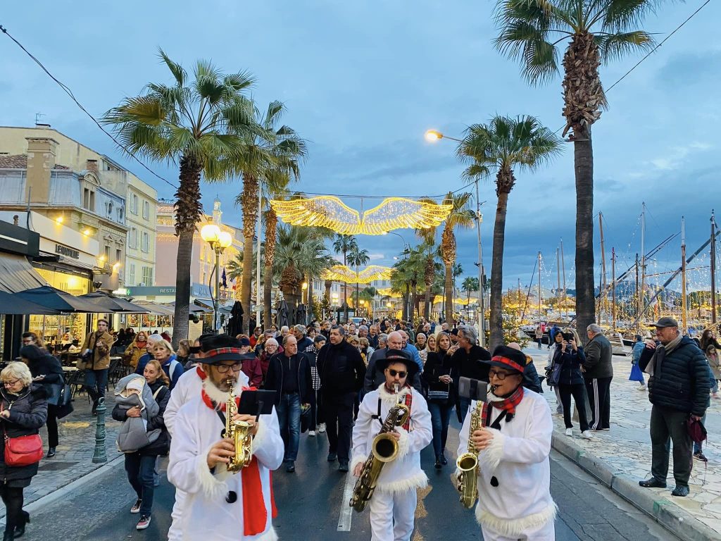
[[[547,364],[548,350],[528,347],[539,374]],[[709,439],[704,454],[709,462],[694,459],[686,498],[671,496],[673,455],[669,466],[668,488],[641,488],[638,481],[651,473],[649,421],[651,404],[637,382],[629,382],[631,363],[614,356],[614,379],[611,382],[611,430],[594,432],[592,440],[580,439],[578,422],[574,421],[572,438],[564,434],[562,416],[554,415],[553,447],[596,476],[619,495],[653,516],[660,524],[683,540],[721,540],[721,400],[713,400],[707,412]],[[556,411],[556,395],[544,385],[544,395]]]

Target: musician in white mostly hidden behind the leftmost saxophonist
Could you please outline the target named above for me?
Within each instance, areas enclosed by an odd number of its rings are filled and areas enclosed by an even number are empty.
[[[203,371],[202,361],[203,355],[206,351],[216,348],[230,348],[239,347],[240,344],[231,335],[218,334],[218,335],[202,335],[198,340],[195,340],[194,348],[200,348],[198,351],[197,359],[198,364],[193,366],[192,369],[182,374],[178,379],[178,382],[173,387],[173,392],[170,394],[170,400],[168,400],[167,408],[163,414],[163,421],[165,427],[168,429],[170,436],[174,436],[175,428],[175,416],[177,415],[182,405],[190,402],[195,397],[200,396],[200,392],[203,390],[203,379],[207,376]],[[248,377],[241,371],[238,374],[238,381],[241,387],[247,387]],[[170,529],[168,530],[168,541],[182,541],[182,529],[180,528],[180,520],[182,518],[182,507],[185,503],[185,492],[181,491],[180,488],[175,490],[175,503],[173,504],[173,510],[170,515],[172,520]]]

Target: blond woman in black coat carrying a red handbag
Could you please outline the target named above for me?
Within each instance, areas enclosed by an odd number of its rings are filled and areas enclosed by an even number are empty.
[[[0,496],[6,507],[3,541],[25,533],[30,515],[22,511],[22,489],[30,485],[43,458],[38,431],[48,417],[47,391],[32,382],[25,363],[9,363],[0,372]]]

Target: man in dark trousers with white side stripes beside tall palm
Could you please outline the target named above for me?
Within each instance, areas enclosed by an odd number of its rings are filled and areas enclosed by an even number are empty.
[[[594,431],[610,430],[611,419],[611,379],[614,378],[611,342],[603,336],[603,330],[596,323],[586,328],[588,343],[585,346],[586,360],[583,363],[583,379],[590,401],[590,429]]]

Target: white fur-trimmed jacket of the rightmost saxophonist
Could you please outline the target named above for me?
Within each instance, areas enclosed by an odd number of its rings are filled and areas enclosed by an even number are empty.
[[[471,408],[475,407],[473,402]],[[493,408],[489,424],[500,413]],[[459,456],[467,450],[470,424],[471,413],[466,415],[459,434]],[[524,389],[516,415],[510,422],[503,419],[500,427],[500,431],[489,428],[494,437],[478,455],[476,519],[482,526],[515,539],[556,516],[550,488],[551,410],[544,397]]]

